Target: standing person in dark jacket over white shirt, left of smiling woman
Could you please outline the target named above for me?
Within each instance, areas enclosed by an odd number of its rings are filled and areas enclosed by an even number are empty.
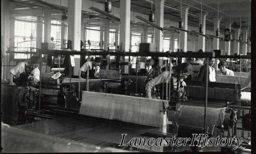
[[[216,74],[215,69],[213,68],[213,65],[215,63],[214,58],[209,58],[209,81],[210,82],[216,82]],[[206,64],[203,65],[200,68],[199,74],[198,74],[198,81],[206,81]]]

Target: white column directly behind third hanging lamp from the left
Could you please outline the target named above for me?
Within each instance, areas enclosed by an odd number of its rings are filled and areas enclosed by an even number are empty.
[[[190,7],[188,6],[182,6],[181,7],[181,10],[182,10],[182,13],[181,13],[181,16],[182,16],[182,19],[183,19],[183,23],[184,23],[184,29],[187,30],[187,14],[188,14],[188,9]],[[184,31],[180,31],[180,41],[179,41],[180,45],[180,50],[183,50],[184,52],[187,52],[187,32],[184,32]]]

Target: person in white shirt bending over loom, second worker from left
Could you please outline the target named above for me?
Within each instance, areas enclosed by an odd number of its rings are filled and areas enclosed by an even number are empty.
[[[82,71],[85,72],[85,74],[87,75],[87,67],[89,67],[89,76],[92,74],[94,69],[98,69],[98,73],[99,73],[99,66],[101,63],[101,59],[100,57],[96,57],[94,61],[89,61],[86,62],[82,65],[82,67],[80,68],[80,70],[78,71],[78,77],[79,79],[83,79],[83,77],[81,77],[81,73]],[[90,73],[91,72],[91,73]]]

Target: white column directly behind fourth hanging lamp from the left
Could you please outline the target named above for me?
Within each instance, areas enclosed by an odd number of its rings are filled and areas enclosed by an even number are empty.
[[[199,24],[198,24],[198,31],[199,31],[199,25],[201,24],[201,17],[202,17],[202,26],[203,26],[203,34],[205,34],[205,23],[206,23],[206,16],[208,15],[208,12],[206,13],[199,13]],[[205,37],[198,35],[198,49],[202,49],[205,52]]]

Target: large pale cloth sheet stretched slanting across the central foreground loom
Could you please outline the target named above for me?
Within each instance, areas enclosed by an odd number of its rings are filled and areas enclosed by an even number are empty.
[[[168,101],[157,99],[82,91],[79,114],[161,128],[163,102],[168,106]]]

